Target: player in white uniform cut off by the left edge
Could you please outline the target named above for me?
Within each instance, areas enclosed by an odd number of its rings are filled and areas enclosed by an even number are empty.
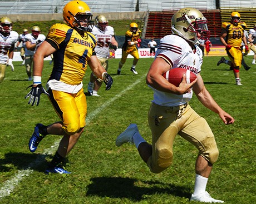
[[[6,75],[7,63],[14,71],[12,64],[13,49],[18,36],[19,34],[16,31],[12,31],[11,19],[7,17],[0,18],[0,83]]]

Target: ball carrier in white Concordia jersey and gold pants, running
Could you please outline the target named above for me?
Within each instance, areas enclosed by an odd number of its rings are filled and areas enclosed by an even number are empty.
[[[219,151],[213,132],[203,117],[188,104],[193,91],[199,101],[209,110],[218,113],[225,124],[232,124],[234,118],[223,111],[211,97],[200,76],[203,53],[195,43],[198,38],[208,39],[210,33],[206,18],[195,8],[183,8],[171,19],[175,34],[161,39],[154,62],[147,73],[147,84],[154,92],[148,121],[152,133],[152,145],[141,137],[137,125],[132,123],[116,138],[116,146],[126,142],[134,143],[150,171],[160,173],[173,161],[173,142],[180,135],[198,148],[195,165],[195,188],[191,201],[220,202],[206,192],[206,184]],[[169,83],[163,74],[170,68],[181,67],[197,74],[197,80],[187,84],[185,74],[179,87]]]

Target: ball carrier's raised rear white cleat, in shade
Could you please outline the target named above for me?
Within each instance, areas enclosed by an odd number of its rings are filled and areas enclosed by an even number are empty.
[[[116,146],[120,147],[122,144],[127,142],[133,144],[132,137],[136,132],[139,132],[137,125],[135,123],[131,123],[124,132],[117,136]]]

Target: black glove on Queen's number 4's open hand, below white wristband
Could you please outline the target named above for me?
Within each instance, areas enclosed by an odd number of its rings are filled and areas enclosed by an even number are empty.
[[[42,84],[38,84],[36,87],[33,87],[33,85],[28,86],[27,88],[32,87],[31,90],[28,92],[28,94],[25,96],[25,99],[30,97],[28,100],[28,104],[33,106],[35,103],[38,106],[40,102],[40,95],[42,93],[45,93],[47,96],[50,96],[49,93],[46,92],[46,90],[43,88]]]

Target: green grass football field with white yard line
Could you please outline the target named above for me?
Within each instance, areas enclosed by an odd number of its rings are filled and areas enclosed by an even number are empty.
[[[243,86],[235,86],[227,64],[216,66],[220,57],[205,57],[201,75],[216,102],[235,118],[225,126],[194,96],[190,105],[205,117],[218,143],[220,156],[210,175],[207,190],[214,198],[232,204],[256,201],[255,109],[256,66],[240,71]],[[150,142],[147,125],[152,91],[145,76],[153,59],[141,58],[136,76],[127,59],[120,76],[119,59],[110,59],[109,73],[113,87],[99,91],[101,97],[87,97],[87,125],[77,145],[68,155],[71,175],[43,173],[56,151],[60,136],[47,136],[35,153],[28,150],[28,140],[35,124],[58,121],[45,95],[40,105],[31,107],[27,94],[26,71],[14,62],[15,71],[7,68],[0,84],[0,203],[190,203],[194,188],[196,148],[177,136],[174,162],[168,170],[153,174],[139,157],[135,146],[115,146],[115,138],[129,123],[137,123],[141,135]],[[43,70],[43,86],[51,72],[48,61]],[[84,79],[87,90],[88,76]]]

